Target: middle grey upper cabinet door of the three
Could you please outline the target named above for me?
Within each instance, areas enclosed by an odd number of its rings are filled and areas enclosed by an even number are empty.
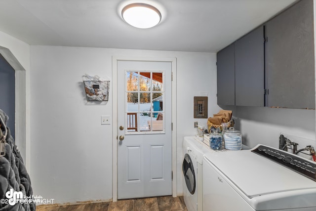
[[[264,29],[253,30],[235,42],[237,106],[264,106]]]

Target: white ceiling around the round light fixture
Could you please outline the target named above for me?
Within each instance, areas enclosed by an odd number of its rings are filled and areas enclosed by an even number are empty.
[[[127,25],[132,0],[0,0],[0,31],[31,45],[217,52],[296,0],[134,0],[153,3],[163,20]]]

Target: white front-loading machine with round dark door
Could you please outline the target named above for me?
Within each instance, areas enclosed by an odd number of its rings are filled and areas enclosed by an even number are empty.
[[[202,160],[210,150],[195,136],[183,140],[183,198],[188,211],[202,211]]]

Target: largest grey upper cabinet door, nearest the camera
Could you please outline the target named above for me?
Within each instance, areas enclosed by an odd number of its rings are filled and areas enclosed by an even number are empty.
[[[315,108],[313,0],[265,24],[267,106]]]

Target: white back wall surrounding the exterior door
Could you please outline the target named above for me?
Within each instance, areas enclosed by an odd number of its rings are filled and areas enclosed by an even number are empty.
[[[195,132],[194,96],[208,95],[210,114],[218,112],[216,54],[31,46],[34,195],[56,203],[112,199],[112,125],[100,125],[101,115],[112,115],[112,95],[107,104],[87,104],[82,84],[85,73],[112,79],[112,56],[177,58],[177,189],[182,194],[182,140]],[[206,119],[200,122],[206,125]]]

